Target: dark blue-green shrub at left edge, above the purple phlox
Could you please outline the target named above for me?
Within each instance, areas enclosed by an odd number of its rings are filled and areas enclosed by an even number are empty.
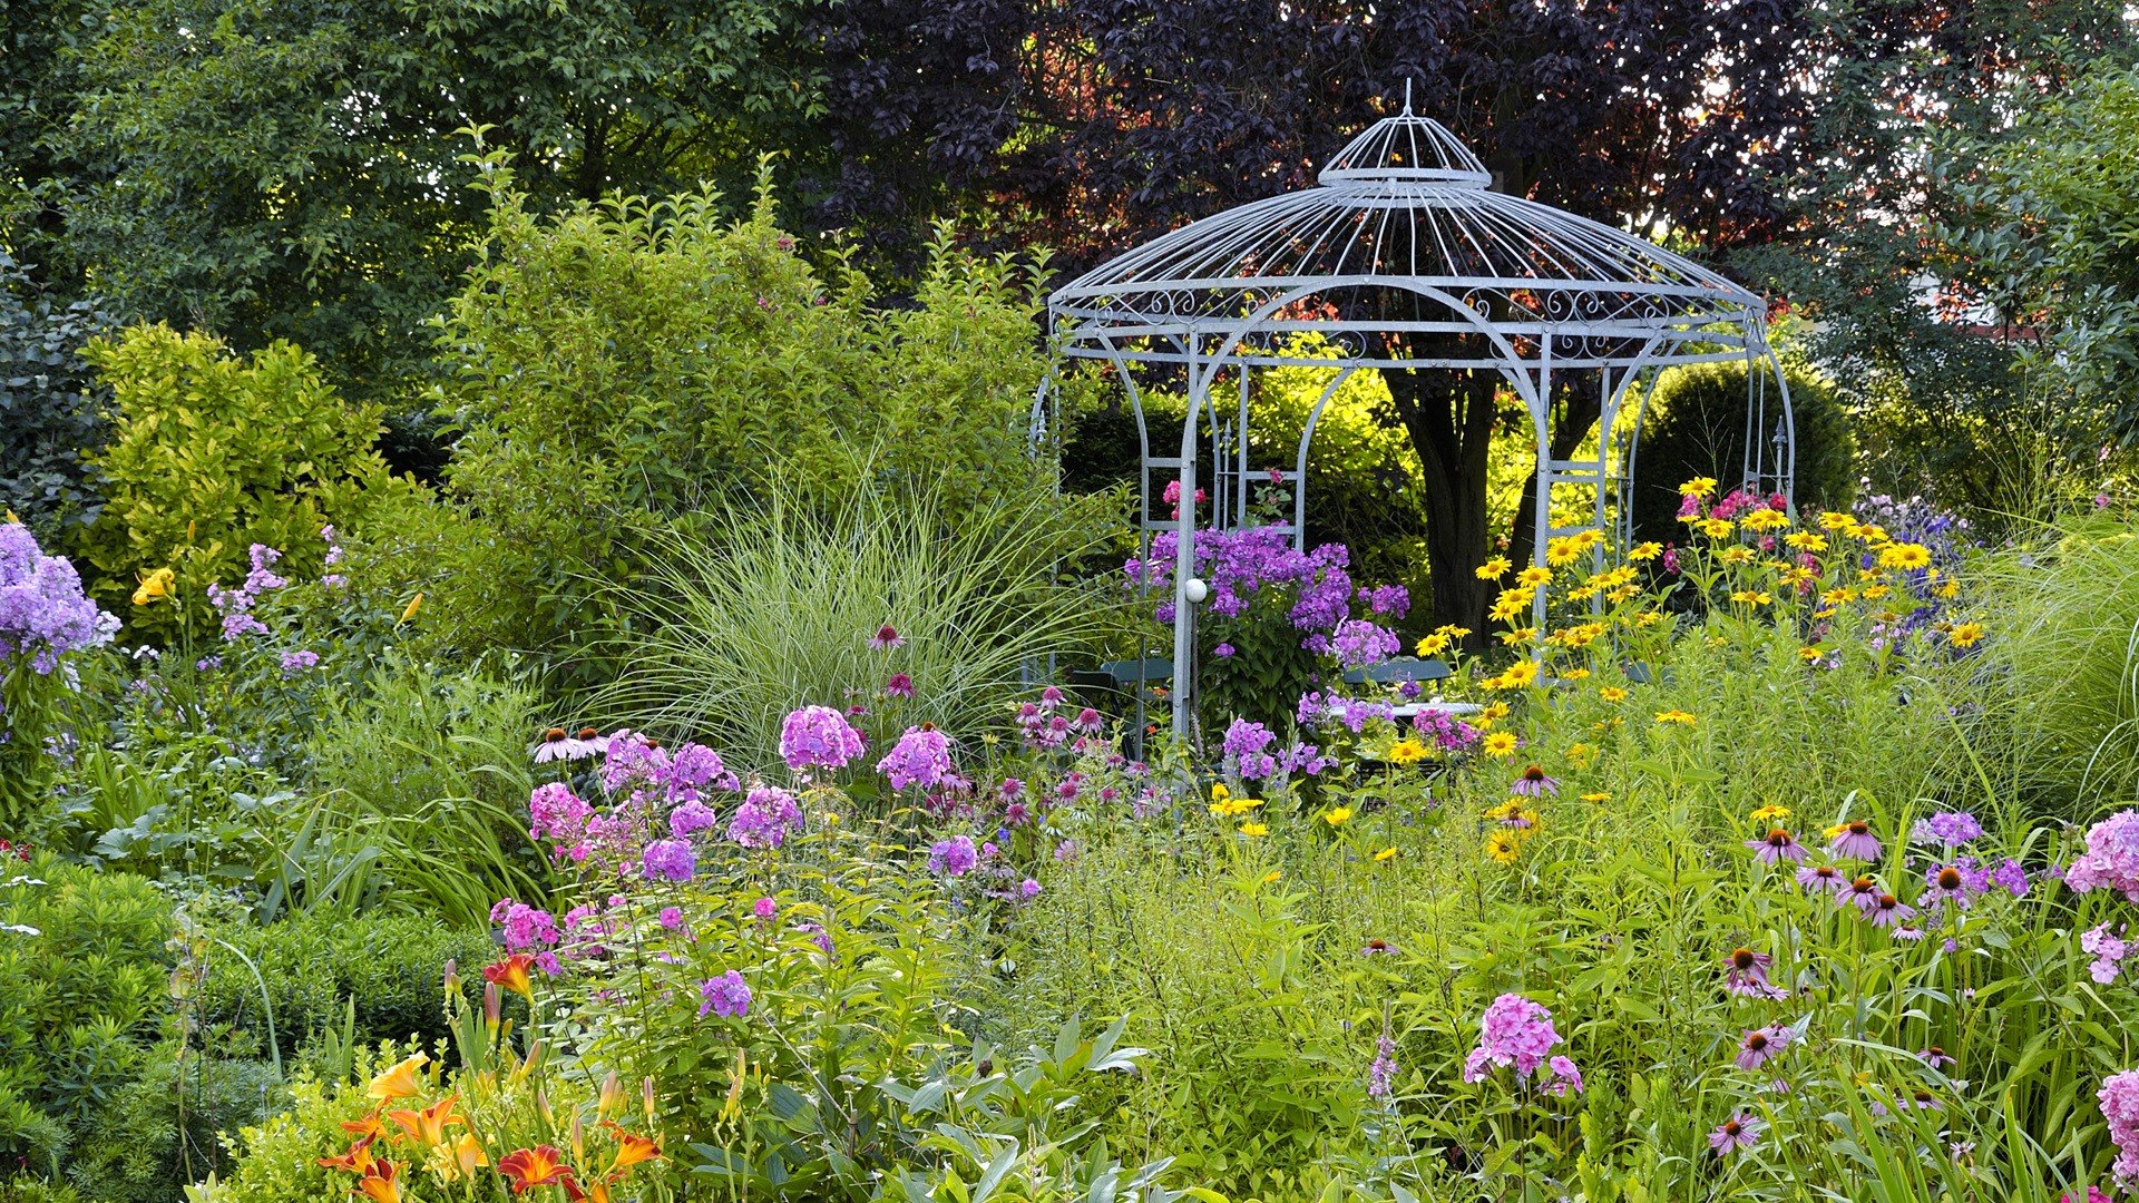
[[[111,396],[81,347],[113,319],[96,302],[56,304],[0,250],[0,507],[39,535],[96,520],[86,456],[105,441]]]

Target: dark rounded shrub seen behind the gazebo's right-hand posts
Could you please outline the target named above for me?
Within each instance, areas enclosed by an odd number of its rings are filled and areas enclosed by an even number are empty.
[[[1857,490],[1857,441],[1850,415],[1835,387],[1805,370],[1784,368],[1790,385],[1790,417],[1797,435],[1795,501],[1799,507],[1848,509]],[[1773,379],[1767,413],[1780,422],[1782,405]],[[1756,385],[1758,390],[1758,385]],[[1634,537],[1681,542],[1677,522],[1679,484],[1694,477],[1737,488],[1743,477],[1745,415],[1756,392],[1748,392],[1745,364],[1692,364],[1664,370],[1641,417],[1641,447],[1634,452]],[[1769,430],[1763,437],[1773,437]],[[1773,456],[1773,447],[1769,447]]]

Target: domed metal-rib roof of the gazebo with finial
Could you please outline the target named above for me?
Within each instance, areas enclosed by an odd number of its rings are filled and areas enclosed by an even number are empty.
[[[1681,255],[1489,184],[1461,139],[1405,111],[1354,137],[1318,186],[1117,255],[1057,289],[1048,310],[1072,353],[1191,330],[1459,330],[1487,315],[1514,336],[1649,342],[1765,317],[1758,295]],[[1392,323],[1386,302],[1348,304],[1388,289],[1412,293],[1418,321]],[[1328,304],[1307,315],[1296,302]]]

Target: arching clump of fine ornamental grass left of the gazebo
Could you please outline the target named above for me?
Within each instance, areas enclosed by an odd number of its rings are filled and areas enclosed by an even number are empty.
[[[802,704],[866,700],[871,747],[924,719],[978,736],[1007,719],[1031,666],[1089,653],[1121,621],[1119,593],[1059,580],[1093,546],[1055,499],[952,509],[864,486],[824,516],[781,501],[732,509],[672,539],[620,593],[648,634],[603,649],[622,676],[595,709],[759,766]],[[905,646],[868,646],[886,623]],[[894,672],[913,698],[883,694]]]

